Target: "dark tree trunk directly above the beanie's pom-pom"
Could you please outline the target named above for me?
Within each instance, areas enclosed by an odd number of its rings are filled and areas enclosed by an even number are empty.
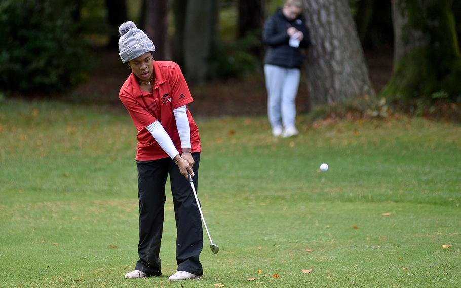
[[[79,0],[79,2],[81,2]],[[119,43],[119,26],[128,20],[125,0],[106,0],[107,16],[110,25],[109,48],[117,48]]]

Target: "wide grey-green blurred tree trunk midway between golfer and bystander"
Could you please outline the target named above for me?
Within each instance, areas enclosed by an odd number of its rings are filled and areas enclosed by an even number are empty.
[[[215,0],[188,0],[183,40],[188,82],[201,83],[207,78],[209,58],[216,39],[216,25]]]

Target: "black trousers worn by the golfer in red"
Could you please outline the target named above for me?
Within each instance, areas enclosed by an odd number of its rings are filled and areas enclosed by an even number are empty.
[[[195,164],[194,186],[197,191],[200,153],[192,154]],[[136,162],[138,167],[139,197],[139,261],[136,270],[148,276],[161,275],[160,240],[162,239],[165,184],[170,174],[176,218],[176,261],[178,271],[202,275],[199,255],[203,248],[200,212],[190,182],[179,172],[171,158]]]

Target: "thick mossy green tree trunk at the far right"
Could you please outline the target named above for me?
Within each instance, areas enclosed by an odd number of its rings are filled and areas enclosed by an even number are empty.
[[[393,0],[394,73],[383,96],[461,93],[461,56],[451,0]]]

